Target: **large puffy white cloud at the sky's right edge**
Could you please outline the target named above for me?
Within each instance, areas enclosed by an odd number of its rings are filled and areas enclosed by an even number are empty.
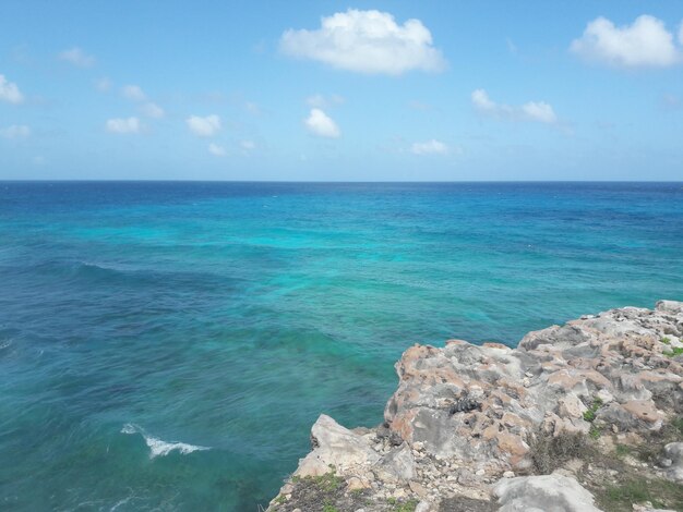
[[[673,34],[661,20],[646,14],[632,25],[619,27],[606,17],[597,17],[588,23],[582,37],[572,41],[570,50],[586,60],[618,68],[666,68],[683,61]]]

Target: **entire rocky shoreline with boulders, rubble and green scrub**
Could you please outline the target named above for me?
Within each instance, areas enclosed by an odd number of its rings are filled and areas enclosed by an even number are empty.
[[[384,424],[321,415],[269,512],[683,510],[683,303],[450,340],[398,363]]]

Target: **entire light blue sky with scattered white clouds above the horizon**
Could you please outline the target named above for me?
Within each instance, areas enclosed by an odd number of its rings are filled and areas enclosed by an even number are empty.
[[[683,2],[0,3],[0,180],[683,180]]]

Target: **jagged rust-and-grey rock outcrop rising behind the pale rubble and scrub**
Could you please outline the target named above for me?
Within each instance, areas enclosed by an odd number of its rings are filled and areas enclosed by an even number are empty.
[[[385,423],[429,455],[499,473],[529,466],[527,439],[541,426],[588,432],[584,414],[619,432],[658,430],[683,412],[683,364],[666,355],[678,337],[683,303],[660,301],[529,332],[517,349],[415,345],[396,364]]]

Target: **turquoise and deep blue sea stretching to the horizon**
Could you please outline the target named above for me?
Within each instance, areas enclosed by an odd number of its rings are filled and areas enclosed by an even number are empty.
[[[408,345],[662,297],[682,183],[0,182],[0,509],[255,511]]]

